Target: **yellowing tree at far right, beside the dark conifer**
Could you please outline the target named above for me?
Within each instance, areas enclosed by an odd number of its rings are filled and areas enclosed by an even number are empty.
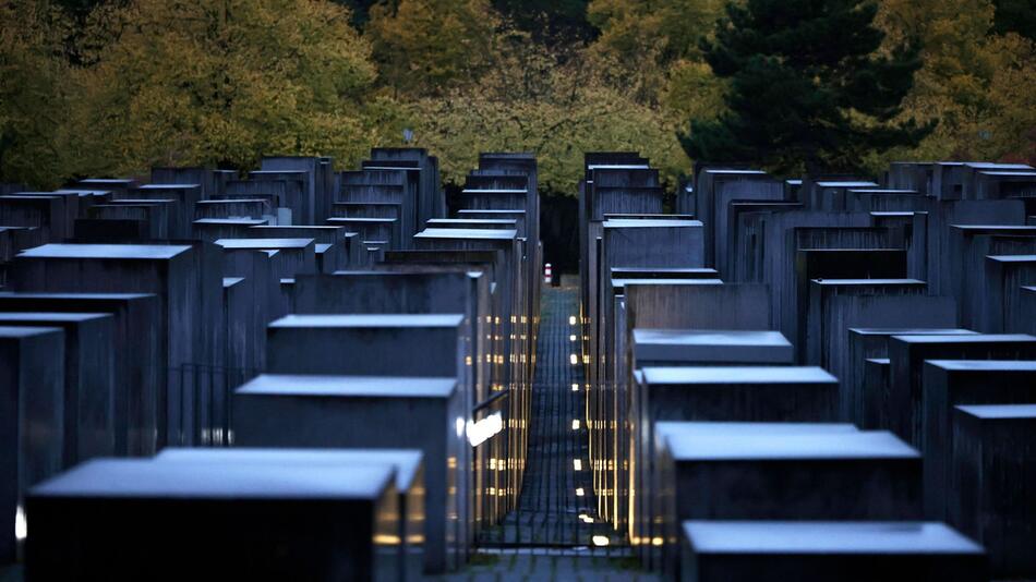
[[[886,0],[878,21],[887,43],[918,39],[924,66],[901,118],[938,120],[917,147],[874,156],[891,159],[1036,161],[1036,44],[995,34],[1004,2]]]

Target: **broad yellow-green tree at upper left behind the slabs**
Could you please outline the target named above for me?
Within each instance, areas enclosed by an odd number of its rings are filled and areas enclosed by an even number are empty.
[[[116,40],[82,71],[80,172],[251,168],[268,154],[354,163],[391,113],[372,92],[370,46],[349,17],[323,0],[98,8],[93,36]]]

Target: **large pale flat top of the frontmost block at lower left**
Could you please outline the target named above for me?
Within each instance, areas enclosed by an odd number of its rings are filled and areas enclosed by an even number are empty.
[[[389,463],[349,468],[208,465],[103,459],[75,466],[29,492],[36,497],[205,499],[374,499],[393,478]]]

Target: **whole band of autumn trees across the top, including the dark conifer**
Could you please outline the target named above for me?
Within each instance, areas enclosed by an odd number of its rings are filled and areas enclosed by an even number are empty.
[[[589,149],[642,150],[671,186],[706,158],[786,171],[1032,162],[1031,8],[0,0],[0,181],[249,169],[273,154],[341,168],[401,145],[403,128],[447,180],[478,149],[528,149],[541,183],[569,195]]]

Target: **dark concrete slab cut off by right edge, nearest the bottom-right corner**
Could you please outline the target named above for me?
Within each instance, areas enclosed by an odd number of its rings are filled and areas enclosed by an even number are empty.
[[[1033,578],[1036,404],[955,407],[952,424],[950,522],[986,547],[992,578]]]

